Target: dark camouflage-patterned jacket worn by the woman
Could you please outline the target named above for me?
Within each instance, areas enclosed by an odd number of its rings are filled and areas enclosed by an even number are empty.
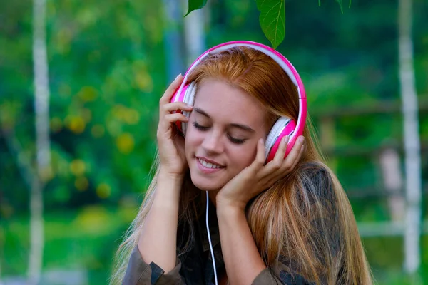
[[[325,179],[326,172],[319,171],[314,175],[315,179],[322,179],[327,182],[325,189],[321,192],[331,191],[330,179]],[[323,187],[324,188],[324,187]],[[215,208],[210,204],[210,234],[213,244],[215,265],[217,272],[225,272],[223,254],[221,252],[220,233],[218,231],[218,222],[215,215]],[[178,246],[181,237],[183,237],[183,227],[178,226]],[[133,249],[131,259],[128,263],[123,285],[211,285],[215,284],[213,262],[210,255],[208,243],[208,234],[205,227],[205,219],[199,219],[195,222],[195,244],[186,252],[177,257],[177,264],[169,272],[163,271],[157,264],[146,262],[141,258],[138,247]],[[290,264],[289,264],[290,265]],[[267,268],[258,274],[253,281],[253,285],[313,285],[314,283],[305,280],[299,274],[291,273],[290,266],[280,263],[277,269]]]

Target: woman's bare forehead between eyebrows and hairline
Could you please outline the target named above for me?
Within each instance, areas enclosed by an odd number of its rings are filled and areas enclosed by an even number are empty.
[[[200,83],[194,105],[203,109],[213,119],[254,126],[265,123],[263,105],[244,90],[230,86],[224,81],[208,80]]]

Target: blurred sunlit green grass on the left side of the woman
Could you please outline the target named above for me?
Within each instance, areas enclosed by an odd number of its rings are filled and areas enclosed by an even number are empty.
[[[107,284],[112,259],[123,232],[136,215],[136,207],[85,207],[77,212],[45,215],[44,271],[84,270],[89,284]],[[1,275],[24,276],[29,253],[29,219],[3,220]]]

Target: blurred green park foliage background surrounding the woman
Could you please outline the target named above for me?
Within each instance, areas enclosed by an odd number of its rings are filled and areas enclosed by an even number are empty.
[[[428,284],[428,3],[414,0],[411,14],[422,162],[420,239],[407,244],[419,255],[415,274],[405,265],[399,1],[347,5],[341,13],[333,0],[285,1],[277,49],[305,83],[322,150],[350,197],[377,283]],[[0,284],[26,284],[41,253],[40,284],[107,284],[150,179],[166,86],[218,43],[270,42],[252,0],[209,0],[186,18],[179,0],[47,0],[50,167],[38,172],[33,11],[29,0],[0,4]]]

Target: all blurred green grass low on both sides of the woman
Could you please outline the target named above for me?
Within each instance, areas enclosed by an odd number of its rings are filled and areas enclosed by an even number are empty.
[[[97,205],[74,212],[47,213],[44,271],[84,270],[88,273],[88,284],[107,284],[114,252],[137,210],[136,205],[114,209]],[[24,276],[29,252],[28,217],[4,219],[2,228],[1,276]],[[417,278],[406,276],[402,271],[402,237],[370,237],[363,239],[363,244],[376,284],[428,284],[427,235],[421,239],[422,264]]]

